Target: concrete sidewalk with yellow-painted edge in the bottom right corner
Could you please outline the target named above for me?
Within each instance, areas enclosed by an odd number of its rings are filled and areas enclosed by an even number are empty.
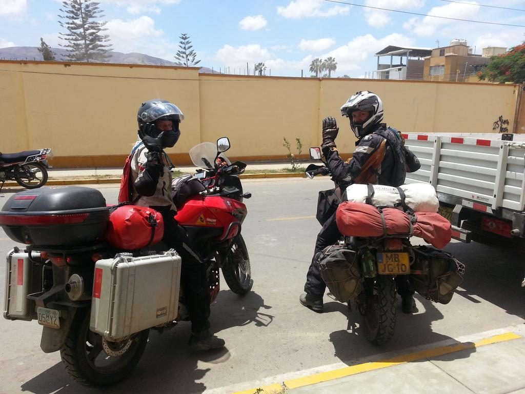
[[[525,327],[262,386],[287,394],[525,393]],[[286,388],[285,388],[286,387]],[[236,394],[253,394],[258,388]]]

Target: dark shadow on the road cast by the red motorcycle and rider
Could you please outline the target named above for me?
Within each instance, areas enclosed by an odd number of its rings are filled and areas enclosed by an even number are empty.
[[[273,316],[259,312],[270,309],[256,293],[240,297],[230,291],[219,292],[217,302],[212,304],[212,331],[233,326],[255,324],[267,327]],[[35,394],[49,393],[130,393],[130,392],[181,392],[199,394],[206,390],[198,382],[213,368],[229,359],[226,348],[217,351],[196,351],[187,345],[190,323],[182,322],[173,329],[159,334],[150,330],[148,346],[132,374],[112,387],[92,389],[78,385],[68,375],[61,362],[23,383],[22,390]]]

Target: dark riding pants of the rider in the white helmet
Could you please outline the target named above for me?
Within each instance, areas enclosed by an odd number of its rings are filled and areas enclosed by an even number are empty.
[[[317,264],[317,255],[327,246],[335,244],[341,237],[341,233],[335,223],[335,213],[324,223],[321,231],[317,235],[316,246],[313,250],[312,262],[308,273],[306,274],[306,284],[304,291],[314,297],[322,298],[326,285],[321,278],[319,265]],[[395,277],[397,284],[397,293],[402,296],[414,294],[414,289],[408,282],[408,275],[397,275]]]

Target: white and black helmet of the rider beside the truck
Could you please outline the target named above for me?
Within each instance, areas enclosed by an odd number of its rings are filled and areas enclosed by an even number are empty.
[[[369,111],[370,116],[363,123],[352,123],[353,111]],[[383,102],[371,91],[358,91],[341,107],[341,114],[350,118],[350,127],[355,137],[361,138],[369,134],[377,123],[383,120]]]

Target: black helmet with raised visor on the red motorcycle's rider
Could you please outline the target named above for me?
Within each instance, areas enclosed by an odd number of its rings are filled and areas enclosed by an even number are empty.
[[[143,102],[137,112],[139,128],[143,125],[151,125],[158,120],[171,120],[173,127],[170,131],[162,131],[156,127],[144,128],[148,137],[158,139],[163,148],[171,148],[175,145],[178,137],[181,136],[181,130],[178,127],[178,124],[182,122],[183,119],[184,115],[176,105],[162,99],[153,99]]]

